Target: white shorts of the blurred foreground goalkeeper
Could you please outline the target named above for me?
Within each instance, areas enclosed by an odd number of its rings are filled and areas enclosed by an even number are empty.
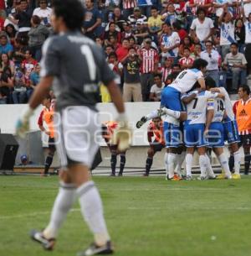
[[[99,113],[85,106],[67,107],[54,114],[56,149],[62,167],[90,167],[99,149]]]

